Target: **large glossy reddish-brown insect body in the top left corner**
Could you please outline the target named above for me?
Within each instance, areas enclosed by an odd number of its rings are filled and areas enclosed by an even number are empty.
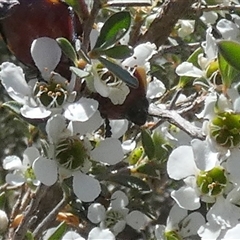
[[[0,4],[6,1],[0,0]],[[0,15],[3,18],[5,14],[6,17],[0,21],[0,30],[10,51],[25,65],[35,67],[30,54],[34,39],[65,37],[71,41],[75,32],[78,36],[82,34],[82,26],[77,17],[72,17],[68,6],[59,0],[18,1],[19,4],[16,4],[14,0],[15,4],[9,12],[2,8]],[[75,29],[72,21],[76,22]],[[63,55],[56,71],[68,78],[69,65],[69,59]]]

